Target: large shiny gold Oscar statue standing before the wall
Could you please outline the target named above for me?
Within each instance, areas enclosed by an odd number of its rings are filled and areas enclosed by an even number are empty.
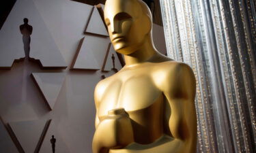
[[[160,54],[141,0],[107,0],[104,20],[126,65],[95,89],[94,153],[194,153],[195,76]]]

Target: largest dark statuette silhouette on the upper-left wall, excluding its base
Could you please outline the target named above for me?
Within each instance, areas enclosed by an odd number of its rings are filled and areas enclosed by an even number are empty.
[[[25,51],[25,58],[29,58],[29,51],[30,51],[30,35],[32,34],[33,27],[29,25],[29,19],[23,19],[24,24],[20,25],[20,33],[23,35],[23,44],[24,44],[24,51]]]

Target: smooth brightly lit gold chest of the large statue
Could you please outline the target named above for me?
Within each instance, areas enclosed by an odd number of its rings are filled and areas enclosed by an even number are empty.
[[[145,109],[158,101],[161,95],[148,75],[115,79],[104,90],[98,115],[105,116],[109,110],[121,107],[126,112]]]

